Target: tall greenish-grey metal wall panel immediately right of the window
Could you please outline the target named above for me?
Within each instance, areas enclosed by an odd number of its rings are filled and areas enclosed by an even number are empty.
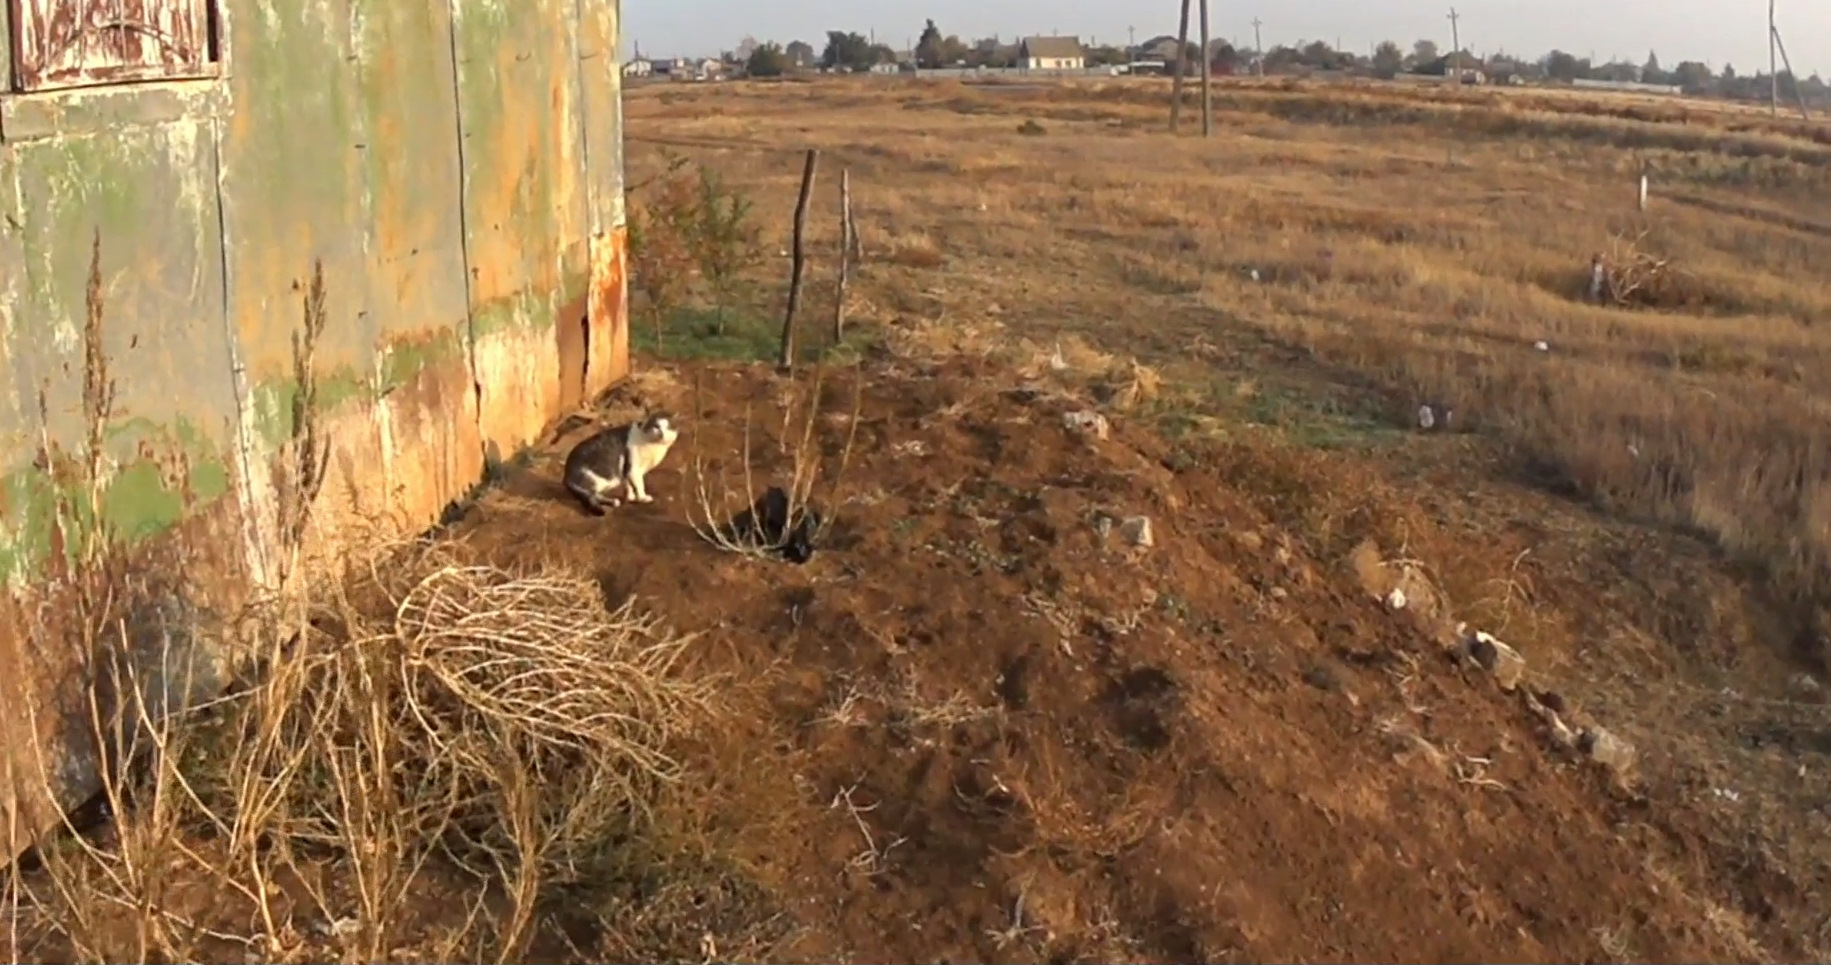
[[[383,427],[379,315],[370,271],[370,114],[363,16],[372,0],[227,0],[234,27],[233,112],[222,136],[229,320],[245,366],[244,434],[253,515],[271,520],[271,454],[291,432],[293,333],[313,264],[324,267],[326,330],[317,346],[330,460],[306,555],[339,557],[375,537],[395,493],[379,482]],[[427,198],[425,203],[439,203]],[[450,201],[445,201],[450,203]],[[258,544],[271,546],[271,527]]]

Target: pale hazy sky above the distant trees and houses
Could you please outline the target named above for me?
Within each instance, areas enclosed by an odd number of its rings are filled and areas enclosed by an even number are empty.
[[[1430,37],[1450,46],[1452,0],[1280,0],[1241,4],[1210,0],[1214,37],[1252,42],[1252,16],[1263,26],[1265,46],[1326,40],[1357,51],[1379,40]],[[1536,57],[1562,48],[1578,57],[1608,60],[1620,55],[1641,62],[1659,53],[1666,68],[1679,60],[1723,62],[1738,71],[1767,70],[1765,0],[1454,0],[1461,13],[1463,46],[1490,53]],[[1146,13],[1146,7],[1152,7]],[[1181,4],[1111,0],[623,0],[624,55],[643,44],[650,57],[718,53],[743,35],[760,40],[802,38],[820,48],[828,29],[877,31],[881,42],[903,46],[934,18],[943,33],[963,38],[1024,33],[1075,33],[1100,42],[1124,42],[1176,33]],[[1780,38],[1802,77],[1831,75],[1831,0],[1780,0]],[[1196,26],[1190,24],[1190,37]]]

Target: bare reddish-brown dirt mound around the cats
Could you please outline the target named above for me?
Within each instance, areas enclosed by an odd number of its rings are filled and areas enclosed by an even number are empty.
[[[1370,593],[1364,553],[1318,558],[1269,522],[1229,483],[1265,489],[1251,447],[1115,412],[1100,438],[1071,417],[1086,401],[987,363],[870,368],[806,566],[723,553],[687,518],[694,452],[731,476],[747,412],[754,485],[789,482],[784,383],[747,368],[650,370],[617,403],[683,416],[655,504],[586,518],[555,445],[452,529],[703,630],[692,672],[729,681],[657,870],[579,892],[536,952],[1798,954],[1750,930],[1683,822]],[[829,381],[811,445],[831,471],[850,388]]]

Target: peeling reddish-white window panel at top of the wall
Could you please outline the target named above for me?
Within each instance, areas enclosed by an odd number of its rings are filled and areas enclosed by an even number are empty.
[[[214,73],[212,0],[9,0],[16,90]]]

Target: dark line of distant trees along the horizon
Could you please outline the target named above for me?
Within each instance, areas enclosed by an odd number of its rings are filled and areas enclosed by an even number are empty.
[[[1201,51],[1196,44],[1185,46],[1183,62],[1188,70],[1201,64]],[[1088,66],[1111,66],[1133,60],[1174,60],[1176,38],[1159,37],[1126,49],[1122,46],[1088,46]],[[1527,81],[1628,81],[1642,84],[1668,84],[1683,88],[1685,93],[1706,97],[1728,97],[1738,101],[1765,101],[1769,97],[1769,77],[1765,73],[1738,73],[1732,64],[1712,70],[1697,60],[1685,60],[1674,68],[1664,68],[1659,55],[1648,51],[1644,62],[1606,62],[1593,64],[1587,57],[1555,49],[1536,59],[1520,59],[1509,53],[1478,55],[1463,49],[1445,53],[1436,40],[1417,40],[1410,49],[1392,40],[1377,44],[1370,53],[1351,53],[1335,49],[1322,40],[1278,44],[1254,57],[1251,49],[1236,49],[1227,40],[1216,40],[1208,48],[1212,64],[1223,73],[1245,73],[1263,70],[1265,73],[1307,73],[1307,71],[1357,71],[1373,77],[1448,75],[1459,62],[1465,71],[1476,70],[1492,81],[1522,77]],[[868,71],[881,64],[908,62],[914,68],[1013,68],[1016,66],[1016,42],[998,37],[961,40],[958,35],[943,33],[934,20],[923,24],[916,48],[899,55],[888,44],[872,42],[870,37],[853,31],[828,31],[826,42],[818,49],[806,40],[789,44],[756,42],[745,38],[734,51],[725,53],[725,60],[742,66],[753,77],[778,77],[806,70],[829,71]],[[1780,95],[1793,101],[1804,95],[1807,103],[1831,104],[1831,84],[1816,73],[1805,81],[1791,71],[1780,71]]]

